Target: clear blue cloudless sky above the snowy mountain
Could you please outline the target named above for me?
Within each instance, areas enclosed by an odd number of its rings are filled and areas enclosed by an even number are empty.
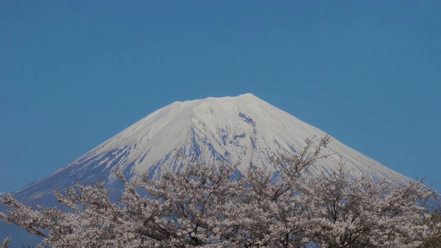
[[[173,101],[245,92],[434,183],[440,13],[438,0],[0,1],[0,192]]]

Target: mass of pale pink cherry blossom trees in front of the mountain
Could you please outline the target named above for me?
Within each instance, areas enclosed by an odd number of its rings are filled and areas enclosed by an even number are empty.
[[[418,247],[433,238],[424,202],[431,189],[352,178],[344,166],[308,178],[306,169],[330,155],[322,154],[329,136],[313,140],[300,154],[273,158],[273,172],[197,162],[161,180],[116,172],[124,185],[116,202],[103,182],[55,191],[64,209],[3,194],[0,219],[51,247]]]

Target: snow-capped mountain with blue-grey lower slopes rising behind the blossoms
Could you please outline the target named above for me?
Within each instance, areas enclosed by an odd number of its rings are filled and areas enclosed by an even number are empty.
[[[194,157],[214,165],[238,163],[240,172],[250,165],[271,169],[269,156],[292,154],[305,147],[306,138],[325,135],[253,94],[174,102],[14,195],[33,203],[52,196],[52,187],[62,189],[76,182],[102,179],[112,187],[117,181],[115,167],[129,177],[147,173],[160,178],[165,171],[183,169]],[[311,176],[329,174],[345,163],[356,177],[366,174],[397,183],[411,181],[335,138],[324,153],[335,155],[309,168]]]

